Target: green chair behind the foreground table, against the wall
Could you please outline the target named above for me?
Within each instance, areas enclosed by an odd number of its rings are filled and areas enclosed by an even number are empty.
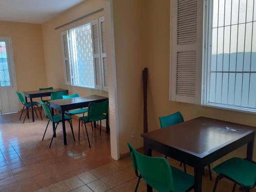
[[[171,115],[159,117],[159,121],[160,121],[161,129],[163,129],[168,126],[172,126],[172,125],[184,122],[184,118],[183,118],[182,114],[178,111]],[[167,158],[167,156],[165,156],[165,158]],[[182,166],[182,162],[180,163],[180,166]],[[210,165],[208,165],[208,169],[209,169],[210,180],[212,180]],[[184,164],[184,172],[187,172],[186,164]]]

